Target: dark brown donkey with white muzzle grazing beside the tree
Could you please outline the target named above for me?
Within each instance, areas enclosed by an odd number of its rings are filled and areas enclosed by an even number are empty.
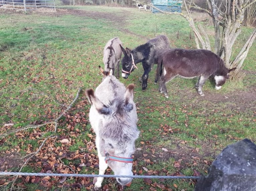
[[[199,77],[195,88],[199,95],[205,96],[202,89],[209,76],[214,76],[215,89],[220,90],[229,79],[229,73],[235,69],[226,68],[224,61],[209,50],[169,49],[159,57],[155,83],[160,77],[159,92],[168,98],[166,83],[174,77]]]

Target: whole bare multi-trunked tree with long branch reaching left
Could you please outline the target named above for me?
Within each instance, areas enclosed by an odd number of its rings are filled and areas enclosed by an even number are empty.
[[[137,1],[135,1],[137,2]],[[238,73],[243,65],[250,47],[256,37],[256,29],[252,32],[238,55],[233,61],[231,61],[232,47],[237,40],[237,37],[241,33],[241,26],[244,20],[244,12],[250,6],[256,5],[256,0],[206,0],[208,8],[202,8],[192,1],[183,0],[186,14],[183,13],[171,13],[165,12],[153,5],[149,5],[159,12],[167,14],[179,14],[186,18],[189,26],[193,29],[197,48],[211,50],[210,41],[207,34],[204,32],[202,26],[196,28],[193,19],[190,16],[190,8],[198,9],[206,12],[211,16],[215,29],[215,46],[214,51],[218,54],[226,63],[226,67],[237,67],[236,73]]]

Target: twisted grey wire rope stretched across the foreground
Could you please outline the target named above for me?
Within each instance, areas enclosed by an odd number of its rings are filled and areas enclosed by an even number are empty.
[[[104,178],[157,178],[157,179],[200,179],[199,176],[144,176],[144,175],[99,175],[99,174],[58,174],[30,172],[0,172],[0,175],[14,176],[66,176],[66,177],[104,177]]]

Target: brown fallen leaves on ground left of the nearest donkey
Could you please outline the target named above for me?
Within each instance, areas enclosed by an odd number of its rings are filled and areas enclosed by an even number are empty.
[[[80,106],[84,104],[86,104],[85,101],[78,103]],[[65,118],[63,118],[64,120],[60,120],[58,122],[58,136],[49,138],[39,153],[28,162],[27,165],[29,165],[36,172],[78,174],[85,169],[98,168],[98,156],[94,154],[95,152],[93,152],[93,150],[96,150],[95,135],[94,133],[86,133],[85,136],[89,138],[84,138],[81,140],[81,134],[83,132],[90,131],[85,129],[86,125],[88,124],[86,113],[84,111],[77,111],[77,108],[76,110],[73,108],[65,114]],[[76,113],[73,114],[72,110],[73,112],[76,111]],[[37,124],[38,122],[33,123],[33,125]],[[13,130],[13,124],[5,124],[0,127],[0,135],[10,130]],[[32,144],[26,145],[26,141],[35,140],[38,145],[40,145],[46,137],[44,135],[47,132],[54,132],[54,125],[48,124],[45,125],[44,128],[35,128],[31,129],[30,131],[18,131],[14,133],[14,135],[8,135],[1,138],[0,146],[11,143],[10,141],[13,138],[19,140],[20,142],[18,145],[0,152],[0,170],[8,172],[13,171],[11,169],[15,168],[17,169],[15,171],[18,171],[25,161],[25,158],[23,159],[19,153],[22,151],[23,153],[31,154],[38,149]],[[78,137],[80,138],[78,139]],[[70,147],[74,146],[77,140],[82,141],[85,146],[83,148],[78,148],[76,151],[70,151]],[[86,174],[86,171],[87,170],[85,170],[83,174]],[[4,188],[14,179],[15,176],[6,176],[4,178],[1,177],[0,189]],[[26,189],[26,183],[39,184],[42,190],[46,190],[52,186],[70,190],[80,190],[82,187],[90,190],[93,187],[92,178],[20,176],[19,179],[19,183],[16,183],[15,186],[20,189]]]

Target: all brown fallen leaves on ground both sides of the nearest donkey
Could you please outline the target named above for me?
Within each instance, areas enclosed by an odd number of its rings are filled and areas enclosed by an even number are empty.
[[[36,172],[41,173],[64,173],[64,174],[92,174],[95,170],[98,170],[98,156],[96,154],[95,148],[95,134],[89,129],[86,129],[89,123],[86,119],[86,113],[84,111],[86,101],[80,101],[76,104],[76,109],[71,108],[68,113],[66,113],[61,120],[58,121],[57,133],[58,136],[49,138],[40,152],[33,157],[27,165]],[[53,119],[56,114],[50,112],[46,113],[47,118]],[[34,121],[33,125],[45,123],[44,121]],[[0,127],[0,134],[2,132],[7,132],[13,130],[12,123],[8,123]],[[78,127],[79,126],[79,127]],[[4,143],[8,143],[10,139],[15,136],[16,139],[24,140],[21,144],[11,147],[5,150],[5,153],[0,153],[0,170],[10,171],[11,168],[19,169],[24,163],[25,159],[19,154],[21,151],[26,154],[31,154],[35,152],[38,148],[35,148],[32,144],[27,144],[25,149],[22,147],[25,144],[25,140],[35,140],[38,145],[42,143],[46,136],[45,133],[53,132],[54,124],[45,125],[44,128],[35,128],[32,130],[18,131],[14,135],[8,135],[0,139],[0,146]],[[163,136],[167,133],[179,133],[179,129],[172,128],[167,124],[160,125],[157,129],[159,133]],[[86,132],[86,133],[85,133]],[[81,140],[81,134],[84,133],[86,138]],[[76,151],[71,151],[70,148],[73,147],[77,141],[82,141],[84,146],[79,147]],[[180,142],[180,144],[186,144],[186,142]],[[150,141],[141,141],[141,147],[137,149],[134,156],[133,162],[133,172],[138,175],[162,175],[162,176],[184,176],[180,170],[187,165],[185,157],[179,155],[178,151],[173,151],[172,149],[166,148],[164,146],[159,146],[155,148]],[[22,149],[23,148],[23,149]],[[144,151],[149,149],[150,152],[145,153]],[[142,153],[141,153],[142,152]],[[194,151],[193,151],[194,152]],[[195,150],[195,152],[198,152]],[[141,154],[140,154],[141,153]],[[24,154],[23,154],[24,155]],[[168,160],[170,157],[174,157],[175,161],[171,164],[176,171],[170,173],[167,169],[157,169],[151,170],[150,165],[156,164],[159,159]],[[178,157],[178,158],[177,158]],[[207,160],[201,160],[200,158],[193,158],[193,165],[196,165],[199,161],[202,161],[205,165],[209,165]],[[144,164],[139,165],[138,161],[144,161]],[[38,169],[38,170],[37,170]],[[105,174],[110,174],[111,170],[107,169]],[[194,176],[200,175],[199,172],[194,171]],[[0,189],[4,188],[8,183],[11,183],[15,177],[6,176],[0,179]],[[39,184],[41,190],[47,190],[51,187],[56,187],[65,190],[81,190],[85,188],[86,190],[91,190],[93,188],[93,178],[82,178],[82,177],[40,177],[40,176],[20,176],[19,182],[16,183],[16,187],[20,189],[27,189],[27,183]],[[171,191],[171,188],[177,188],[175,184],[166,185],[164,184],[164,179],[159,182],[154,181],[154,179],[143,179],[143,182],[147,187],[141,187],[143,189],[149,190],[165,190]],[[191,184],[195,181],[190,180]],[[113,186],[118,191],[124,189],[123,186],[116,184],[114,178],[109,178],[107,184],[103,184],[102,190],[112,190]],[[129,190],[130,184],[126,185],[126,190]],[[149,186],[149,187],[148,187]]]

